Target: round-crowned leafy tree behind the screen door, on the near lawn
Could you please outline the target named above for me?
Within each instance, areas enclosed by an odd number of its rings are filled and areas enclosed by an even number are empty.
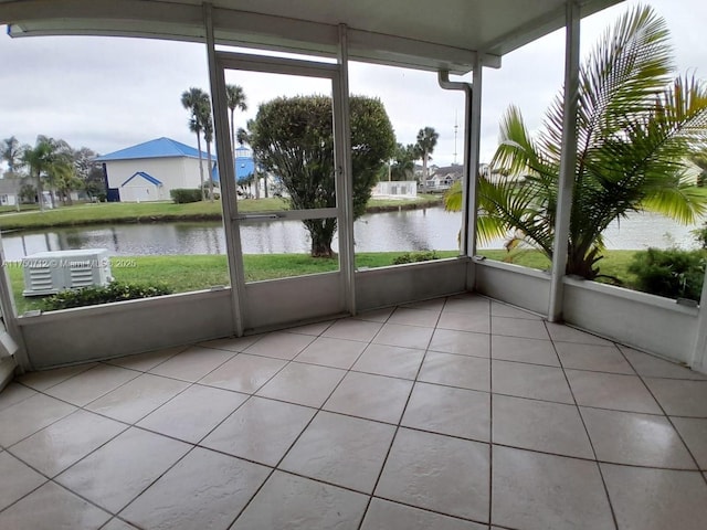
[[[354,216],[366,212],[371,190],[395,145],[393,128],[379,99],[352,96],[351,165]],[[336,208],[331,98],[278,97],[260,106],[250,123],[250,142],[265,171],[276,174],[294,210]],[[312,256],[331,257],[336,218],[305,219]]]

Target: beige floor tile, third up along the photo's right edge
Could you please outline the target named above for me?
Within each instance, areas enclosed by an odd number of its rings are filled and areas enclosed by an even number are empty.
[[[646,378],[645,384],[668,415],[707,417],[707,381]]]

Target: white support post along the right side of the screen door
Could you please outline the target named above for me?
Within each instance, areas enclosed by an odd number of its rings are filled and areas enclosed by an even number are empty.
[[[356,315],[356,254],[354,247],[354,172],[351,169],[351,119],[349,114],[349,55],[345,24],[339,25],[339,75],[335,84],[336,186],[339,222],[339,266],[344,276],[344,300]]]

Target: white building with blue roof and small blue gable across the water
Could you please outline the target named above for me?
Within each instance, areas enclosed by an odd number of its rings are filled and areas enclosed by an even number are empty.
[[[215,156],[209,165],[202,151],[204,183],[209,181]],[[148,202],[170,199],[177,188],[199,188],[199,151],[171,138],[157,138],[96,158],[110,202]]]

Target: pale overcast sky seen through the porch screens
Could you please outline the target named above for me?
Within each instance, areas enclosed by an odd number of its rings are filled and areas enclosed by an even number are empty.
[[[646,2],[630,0],[587,19],[583,55],[619,14],[637,3]],[[707,80],[707,2],[648,3],[668,23],[679,72]],[[562,84],[563,46],[563,31],[559,31],[505,56],[500,70],[484,71],[483,161],[493,155],[498,120],[509,104],[521,108],[531,128],[540,126]],[[160,136],[196,145],[179,98],[190,86],[208,88],[203,45],[67,36],[12,40],[2,31],[0,64],[0,138],[14,135],[33,144],[38,134],[44,134],[102,153]],[[252,82],[232,78],[241,80]],[[433,73],[352,64],[350,85],[356,94],[383,100],[399,141],[413,142],[421,127],[432,126],[440,132],[434,163],[453,162],[455,152],[461,162],[463,97],[441,91]],[[257,103],[284,95],[284,86],[287,95],[327,89],[294,82],[257,85],[246,91],[251,108],[236,116],[238,125],[254,115]],[[460,125],[456,141],[455,121]]]

